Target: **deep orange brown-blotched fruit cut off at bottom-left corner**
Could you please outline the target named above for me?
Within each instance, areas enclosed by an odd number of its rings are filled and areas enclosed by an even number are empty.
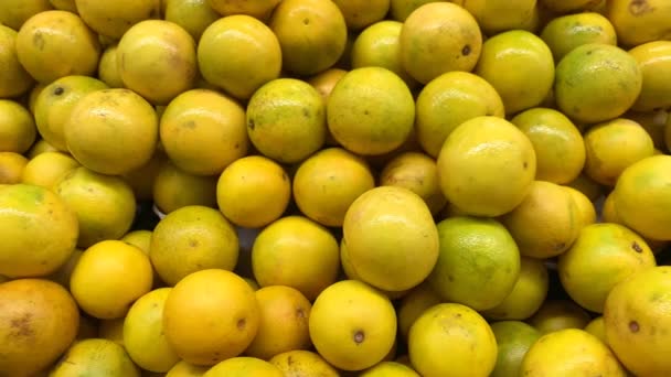
[[[42,279],[1,283],[0,374],[32,375],[49,367],[75,340],[78,323],[77,304],[63,287]]]

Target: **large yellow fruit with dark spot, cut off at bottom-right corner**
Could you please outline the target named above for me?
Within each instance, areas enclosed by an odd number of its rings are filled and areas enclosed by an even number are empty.
[[[661,376],[671,369],[669,342],[671,267],[641,271],[615,286],[604,306],[608,345],[637,376]],[[662,331],[662,328],[664,331]]]

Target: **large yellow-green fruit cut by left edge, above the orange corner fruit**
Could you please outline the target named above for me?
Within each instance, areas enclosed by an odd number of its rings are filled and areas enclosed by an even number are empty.
[[[58,269],[77,243],[77,217],[52,191],[25,184],[0,186],[0,273],[46,276]]]

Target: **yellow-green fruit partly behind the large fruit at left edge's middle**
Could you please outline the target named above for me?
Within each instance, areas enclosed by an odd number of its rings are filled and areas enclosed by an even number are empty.
[[[118,239],[132,225],[136,201],[120,177],[75,168],[65,173],[53,190],[77,215],[79,247]]]

